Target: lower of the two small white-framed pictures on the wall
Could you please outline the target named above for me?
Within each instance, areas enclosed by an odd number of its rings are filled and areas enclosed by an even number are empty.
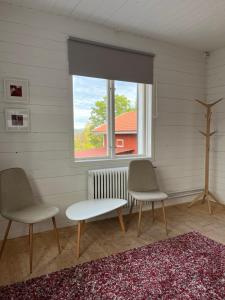
[[[30,130],[30,112],[26,108],[5,109],[6,131],[21,132]]]

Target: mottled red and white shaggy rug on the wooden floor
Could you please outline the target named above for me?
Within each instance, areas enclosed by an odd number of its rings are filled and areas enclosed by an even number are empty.
[[[191,232],[0,287],[0,299],[222,300],[225,246]]]

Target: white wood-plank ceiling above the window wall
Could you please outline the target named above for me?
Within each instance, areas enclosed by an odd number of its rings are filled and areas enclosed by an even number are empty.
[[[224,0],[0,0],[200,50],[225,46]]]

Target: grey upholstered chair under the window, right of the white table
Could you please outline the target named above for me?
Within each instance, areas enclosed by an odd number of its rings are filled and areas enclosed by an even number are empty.
[[[141,227],[141,216],[142,216],[142,206],[143,202],[152,203],[152,215],[154,221],[154,202],[161,202],[163,210],[163,218],[165,222],[166,234],[167,230],[167,220],[165,213],[164,200],[168,198],[166,193],[159,190],[154,167],[152,163],[147,159],[133,160],[129,165],[128,172],[128,191],[129,194],[139,202],[139,218],[138,218],[138,236],[140,235]],[[130,214],[132,213],[133,202],[130,209]]]

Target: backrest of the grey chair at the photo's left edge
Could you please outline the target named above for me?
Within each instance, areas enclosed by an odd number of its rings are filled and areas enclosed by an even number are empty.
[[[0,212],[17,210],[33,202],[32,189],[23,169],[0,172]]]

